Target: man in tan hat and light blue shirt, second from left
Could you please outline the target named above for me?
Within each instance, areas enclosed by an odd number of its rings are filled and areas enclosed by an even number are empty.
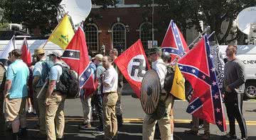
[[[38,120],[40,124],[40,132],[36,134],[36,138],[46,137],[46,91],[47,88],[43,89],[43,93],[40,97],[36,98],[38,93],[41,91],[46,79],[43,79],[43,61],[46,60],[45,51],[42,48],[35,49],[33,57],[36,57],[36,64],[33,68],[33,109],[36,110]]]

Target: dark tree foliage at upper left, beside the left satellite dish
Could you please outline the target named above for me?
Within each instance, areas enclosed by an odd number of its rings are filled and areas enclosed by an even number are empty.
[[[22,23],[28,29],[40,28],[41,34],[48,34],[58,24],[57,7],[61,0],[1,0],[4,20],[9,23]],[[116,0],[92,0],[92,4],[107,8]]]

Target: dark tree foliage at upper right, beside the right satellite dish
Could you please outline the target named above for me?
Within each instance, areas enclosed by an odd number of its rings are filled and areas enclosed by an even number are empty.
[[[210,25],[210,30],[215,30],[215,35],[220,43],[227,43],[239,38],[237,32],[232,30],[235,18],[242,9],[255,6],[255,0],[154,0],[155,4],[162,6],[159,10],[161,23],[168,25],[174,19],[178,26],[186,34],[187,28],[201,30],[199,21],[205,25]],[[152,0],[142,0],[142,6],[149,6]],[[223,23],[228,23],[228,29],[222,30]],[[233,34],[231,40],[227,40],[228,35]],[[186,35],[184,35],[186,36]]]

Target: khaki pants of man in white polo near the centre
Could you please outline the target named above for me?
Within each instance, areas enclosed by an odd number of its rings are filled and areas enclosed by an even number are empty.
[[[117,93],[104,93],[103,96],[103,124],[105,129],[105,139],[112,139],[117,134],[117,116],[115,115],[117,98]]]

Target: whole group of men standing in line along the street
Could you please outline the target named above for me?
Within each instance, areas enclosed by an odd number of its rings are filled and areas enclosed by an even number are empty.
[[[228,62],[225,64],[225,80],[223,86],[223,96],[230,122],[230,132],[226,135],[228,139],[236,139],[235,119],[237,119],[242,132],[241,139],[247,139],[247,129],[245,119],[242,116],[242,93],[244,91],[245,72],[244,66],[235,57],[238,48],[229,45],[226,49]],[[166,64],[170,62],[170,57],[162,57],[160,47],[149,49],[149,60],[151,67],[159,76],[161,88],[164,88],[166,77]],[[33,108],[36,110],[39,119],[40,132],[37,138],[43,137],[49,140],[63,139],[65,127],[64,103],[66,95],[56,90],[56,83],[60,81],[63,62],[61,61],[62,52],[55,50],[49,54],[46,60],[43,49],[36,49],[33,57],[36,64],[33,66]],[[164,56],[168,56],[165,54]],[[84,122],[81,127],[90,128],[92,106],[95,106],[100,125],[97,127],[95,135],[103,135],[104,139],[117,139],[117,129],[122,127],[122,74],[113,63],[118,56],[117,49],[110,51],[110,56],[97,54],[93,58],[95,65],[95,78],[98,86],[93,95],[81,97],[82,109],[84,112]],[[164,60],[163,60],[163,59]],[[4,112],[6,122],[11,122],[13,131],[12,139],[26,137],[26,100],[28,98],[28,66],[21,60],[21,50],[14,49],[9,54],[9,64],[6,71],[6,82],[4,84]],[[50,66],[49,76],[43,79],[46,64]],[[44,83],[48,83],[43,88]],[[82,91],[85,92],[86,90]],[[163,90],[162,90],[163,91]],[[86,94],[82,94],[86,95]],[[91,100],[92,98],[92,100]],[[161,139],[174,139],[174,117],[173,106],[174,96],[170,93],[161,93],[160,101],[164,103],[165,114],[160,119],[154,119],[151,115],[146,115],[143,122],[144,140],[153,140],[156,122],[159,124]],[[189,134],[198,134],[198,121],[193,119],[194,127],[186,131]],[[20,128],[21,127],[21,128]],[[21,132],[19,133],[19,130]],[[209,139],[210,132],[208,123],[205,123],[205,135],[202,139]]]

